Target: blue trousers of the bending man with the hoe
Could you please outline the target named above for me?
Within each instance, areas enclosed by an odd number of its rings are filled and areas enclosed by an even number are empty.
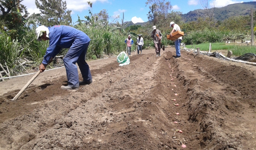
[[[68,50],[67,54],[63,58],[64,65],[66,67],[66,73],[68,78],[68,86],[79,87],[79,76],[76,66],[79,66],[82,77],[84,80],[91,80],[91,72],[89,65],[85,61],[85,55],[90,42],[80,44],[80,42],[74,41],[73,45]]]

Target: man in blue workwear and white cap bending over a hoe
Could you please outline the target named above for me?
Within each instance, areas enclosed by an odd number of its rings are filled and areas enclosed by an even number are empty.
[[[46,49],[44,59],[39,66],[39,70],[44,72],[47,64],[51,63],[53,58],[62,48],[69,48],[63,58],[68,78],[68,86],[61,86],[61,89],[79,89],[79,85],[86,85],[93,82],[89,65],[85,61],[87,48],[90,44],[90,38],[84,32],[70,26],[39,26],[35,33],[38,41],[49,40],[49,47]],[[79,82],[77,65],[81,71],[83,81]]]

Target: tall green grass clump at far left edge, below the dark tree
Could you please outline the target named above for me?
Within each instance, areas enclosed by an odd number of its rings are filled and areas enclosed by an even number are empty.
[[[12,40],[4,31],[0,31],[0,54],[1,64],[6,63],[12,73],[16,60],[21,57],[21,49],[18,40]]]

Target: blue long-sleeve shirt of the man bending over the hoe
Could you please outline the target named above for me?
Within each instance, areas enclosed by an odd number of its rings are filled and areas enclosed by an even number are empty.
[[[84,32],[70,26],[53,26],[49,29],[49,47],[46,49],[43,64],[48,64],[62,48],[75,47],[76,44],[88,43],[91,39]]]

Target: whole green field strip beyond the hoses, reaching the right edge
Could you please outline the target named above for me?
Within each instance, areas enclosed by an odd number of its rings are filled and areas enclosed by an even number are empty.
[[[236,45],[236,44],[226,44],[226,43],[211,43],[212,51],[215,50],[231,50],[233,56],[241,56],[245,53],[256,54],[256,46],[246,46],[246,45]],[[200,48],[202,51],[209,51],[210,43],[202,43],[198,45],[186,45],[187,48]]]

